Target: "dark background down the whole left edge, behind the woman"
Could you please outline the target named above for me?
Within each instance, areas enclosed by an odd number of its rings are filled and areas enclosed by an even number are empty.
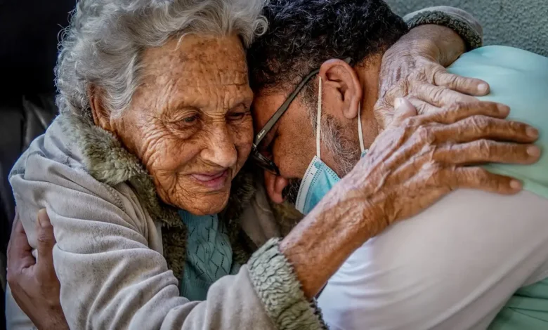
[[[28,143],[56,114],[53,106],[58,35],[75,0],[0,0],[0,278],[14,206],[7,176]],[[2,288],[3,289],[3,288]],[[5,329],[0,290],[0,329]]]

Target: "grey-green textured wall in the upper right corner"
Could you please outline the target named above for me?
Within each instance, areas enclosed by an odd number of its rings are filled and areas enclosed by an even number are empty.
[[[429,6],[464,9],[480,20],[486,45],[523,48],[548,56],[548,0],[385,0],[405,15]]]

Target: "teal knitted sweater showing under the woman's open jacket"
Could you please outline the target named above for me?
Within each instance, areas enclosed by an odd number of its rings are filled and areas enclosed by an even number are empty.
[[[194,216],[179,211],[188,228],[185,271],[181,279],[181,296],[190,301],[204,301],[209,286],[233,273],[232,247],[228,232],[218,216]]]

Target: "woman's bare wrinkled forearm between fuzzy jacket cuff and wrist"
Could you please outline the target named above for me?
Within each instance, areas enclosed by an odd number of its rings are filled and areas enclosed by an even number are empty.
[[[367,221],[372,220],[370,204],[340,187],[280,243],[307,298],[316,296],[348,256],[379,232],[374,221]]]

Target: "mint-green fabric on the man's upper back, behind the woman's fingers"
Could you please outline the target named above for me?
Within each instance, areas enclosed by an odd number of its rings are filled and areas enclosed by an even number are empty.
[[[449,71],[487,81],[491,93],[481,99],[509,105],[509,119],[539,129],[537,145],[547,152],[536,164],[489,164],[486,168],[523,180],[526,190],[548,198],[548,58],[517,48],[487,46],[462,55]]]

